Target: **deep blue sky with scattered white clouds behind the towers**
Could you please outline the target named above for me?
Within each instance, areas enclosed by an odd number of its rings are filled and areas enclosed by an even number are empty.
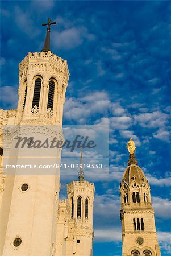
[[[170,1],[1,1],[2,109],[15,109],[18,63],[43,48],[68,60],[65,125],[110,125],[110,174],[95,183],[94,256],[121,255],[119,182],[126,143],[151,184],[162,255],[170,255]],[[65,184],[76,177],[61,175]]]

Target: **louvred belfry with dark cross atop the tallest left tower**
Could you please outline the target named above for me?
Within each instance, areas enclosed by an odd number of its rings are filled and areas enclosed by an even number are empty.
[[[29,52],[19,64],[19,101],[15,124],[62,125],[65,92],[69,80],[66,60],[50,50],[48,25],[44,48]]]

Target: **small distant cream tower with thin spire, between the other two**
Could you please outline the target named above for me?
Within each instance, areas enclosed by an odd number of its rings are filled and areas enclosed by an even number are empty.
[[[78,181],[72,181],[67,185],[68,199],[59,201],[56,256],[93,255],[95,187],[93,183],[84,180],[82,168],[78,175]]]

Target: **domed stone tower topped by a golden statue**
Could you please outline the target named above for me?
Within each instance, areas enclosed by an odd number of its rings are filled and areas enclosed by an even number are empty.
[[[123,256],[161,256],[148,180],[135,159],[135,144],[127,144],[130,160],[120,184]]]

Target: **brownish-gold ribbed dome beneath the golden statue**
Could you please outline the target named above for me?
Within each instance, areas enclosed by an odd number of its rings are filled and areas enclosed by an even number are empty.
[[[132,180],[135,180],[137,183],[142,184],[145,180],[145,174],[143,170],[137,166],[137,164],[130,164],[127,166],[123,174],[123,180],[130,185]]]

